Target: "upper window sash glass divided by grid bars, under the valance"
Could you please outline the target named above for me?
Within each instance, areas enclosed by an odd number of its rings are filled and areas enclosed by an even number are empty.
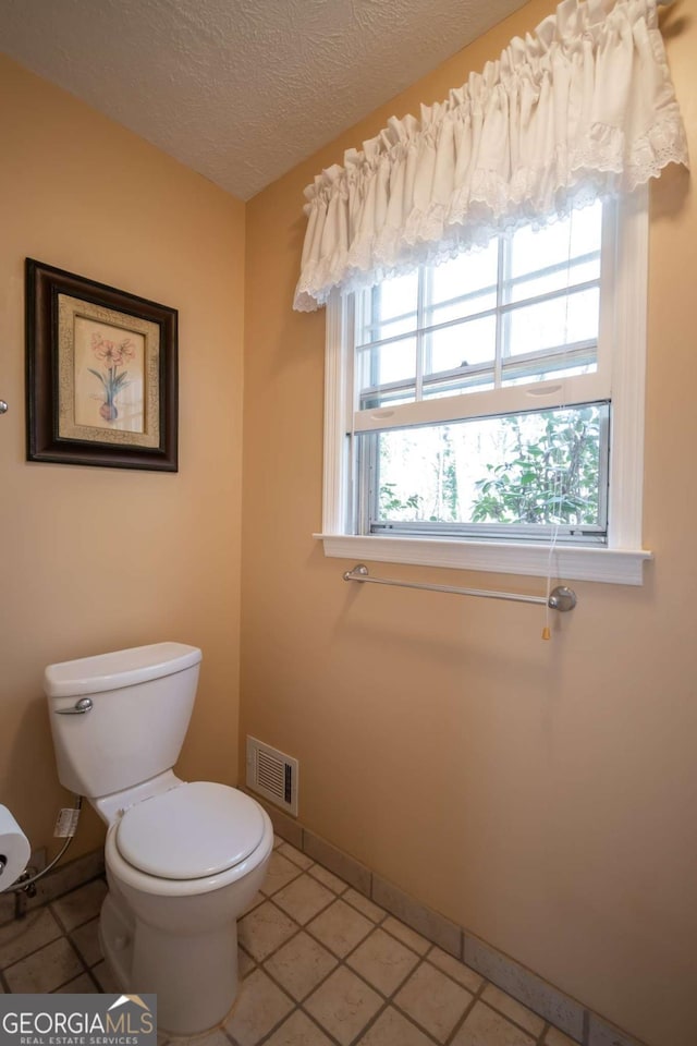
[[[597,372],[607,226],[597,203],[364,292],[358,411]]]

